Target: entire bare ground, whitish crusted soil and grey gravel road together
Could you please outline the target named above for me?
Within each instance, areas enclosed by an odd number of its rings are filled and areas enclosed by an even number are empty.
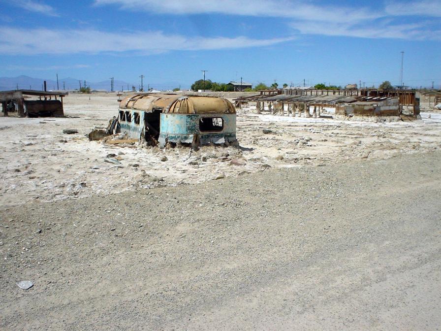
[[[89,142],[118,107],[90,98],[0,118],[0,330],[440,330],[439,113],[245,110],[190,153]]]

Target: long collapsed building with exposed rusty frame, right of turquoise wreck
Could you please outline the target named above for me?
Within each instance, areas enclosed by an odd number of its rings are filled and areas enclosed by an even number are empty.
[[[419,117],[419,97],[410,90],[263,90],[260,95],[238,98],[235,102],[238,108],[255,102],[257,113],[266,106],[272,114],[283,115],[287,109],[288,114],[304,117],[321,117],[324,107],[335,108],[337,117],[396,116],[403,120]]]

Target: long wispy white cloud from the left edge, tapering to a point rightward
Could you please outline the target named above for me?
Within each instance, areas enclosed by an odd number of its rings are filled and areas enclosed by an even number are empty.
[[[186,37],[160,31],[110,33],[97,30],[15,29],[0,27],[0,54],[162,53],[269,46],[292,37],[252,39],[245,36]]]

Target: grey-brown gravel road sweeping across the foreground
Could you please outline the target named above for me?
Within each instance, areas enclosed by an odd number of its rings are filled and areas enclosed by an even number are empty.
[[[440,164],[438,149],[8,206],[0,329],[440,330]]]

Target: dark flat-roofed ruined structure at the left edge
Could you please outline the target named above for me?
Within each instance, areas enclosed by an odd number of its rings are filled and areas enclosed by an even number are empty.
[[[3,116],[63,117],[63,97],[67,94],[35,90],[0,91]]]

